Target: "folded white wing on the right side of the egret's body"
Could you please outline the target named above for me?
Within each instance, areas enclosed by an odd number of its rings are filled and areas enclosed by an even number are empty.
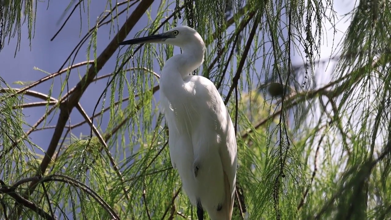
[[[237,166],[236,137],[231,117],[209,79],[191,76],[188,83],[194,94],[192,108],[201,115],[197,123],[199,127],[194,128],[193,133],[195,162],[201,164],[198,171],[201,175],[197,177],[201,203],[212,220],[231,219]],[[206,166],[204,171],[203,166]],[[204,175],[202,172],[205,172]],[[203,202],[202,197],[208,202]],[[217,201],[220,204],[213,204]]]

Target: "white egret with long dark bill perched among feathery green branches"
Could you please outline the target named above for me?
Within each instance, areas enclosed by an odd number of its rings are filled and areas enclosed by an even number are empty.
[[[230,114],[215,85],[190,73],[204,61],[205,44],[194,29],[178,26],[162,34],[119,43],[163,43],[182,54],[169,58],[161,71],[160,102],[169,128],[172,166],[183,189],[212,220],[231,220],[235,196],[237,146]]]

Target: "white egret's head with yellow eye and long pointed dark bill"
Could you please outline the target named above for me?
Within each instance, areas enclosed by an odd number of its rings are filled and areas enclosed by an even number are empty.
[[[132,45],[141,43],[163,43],[186,48],[188,45],[197,44],[205,47],[204,41],[197,31],[188,26],[174,27],[164,33],[132,40],[122,41],[119,45]]]

